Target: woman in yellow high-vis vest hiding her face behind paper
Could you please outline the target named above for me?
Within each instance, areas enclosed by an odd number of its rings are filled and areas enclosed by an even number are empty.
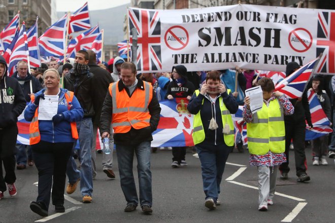
[[[294,107],[286,95],[274,92],[270,78],[262,78],[257,85],[263,91],[263,106],[252,114],[250,98],[245,98],[243,119],[247,122],[249,164],[257,166],[259,211],[273,205],[278,166],[286,162],[284,116],[292,115]]]

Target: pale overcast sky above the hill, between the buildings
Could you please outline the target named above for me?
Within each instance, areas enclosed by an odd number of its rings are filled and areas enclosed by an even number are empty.
[[[86,2],[89,10],[99,10],[129,4],[130,0],[56,0],[57,12],[76,11]]]

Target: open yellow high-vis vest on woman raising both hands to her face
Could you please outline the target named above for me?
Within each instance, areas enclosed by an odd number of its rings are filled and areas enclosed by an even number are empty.
[[[195,90],[195,95],[199,95],[199,90]],[[227,89],[227,93],[230,93],[230,89]],[[203,104],[204,104],[203,99]],[[234,144],[234,125],[232,123],[232,118],[230,115],[229,110],[227,109],[226,105],[223,103],[222,97],[219,97],[219,103],[220,103],[220,110],[221,110],[221,116],[222,116],[222,126],[225,124],[229,125],[230,132],[228,134],[223,134],[224,142],[228,146],[232,146]],[[203,126],[203,122],[200,117],[200,110],[199,112],[193,117],[193,133],[192,138],[194,144],[198,144],[200,142],[203,142],[205,140],[205,130]]]

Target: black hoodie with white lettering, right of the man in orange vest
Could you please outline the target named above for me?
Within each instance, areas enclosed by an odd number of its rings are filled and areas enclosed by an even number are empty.
[[[177,65],[172,67],[172,71],[174,69],[176,69],[181,78],[184,79],[185,83],[179,87],[176,80],[172,76],[172,82],[168,85],[165,99],[168,98],[169,94],[171,94],[174,98],[186,98],[187,96],[192,96],[195,91],[195,87],[192,82],[187,80],[186,67],[183,65]]]

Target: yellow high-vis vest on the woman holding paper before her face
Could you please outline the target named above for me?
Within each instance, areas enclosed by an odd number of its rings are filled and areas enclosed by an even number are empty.
[[[247,123],[247,134],[250,154],[285,152],[284,111],[277,98],[270,101],[269,107],[263,102],[262,109]]]

